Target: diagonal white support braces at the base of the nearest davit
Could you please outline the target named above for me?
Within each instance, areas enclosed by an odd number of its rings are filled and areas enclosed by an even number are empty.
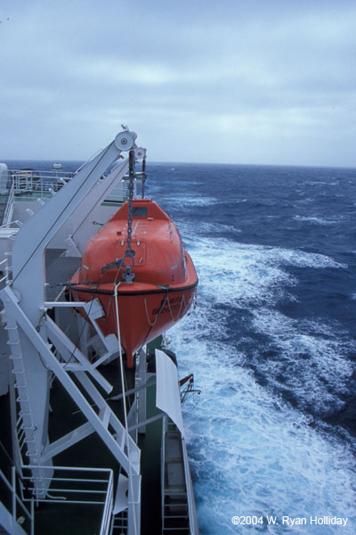
[[[16,295],[12,292],[10,286],[6,286],[2,294],[14,370],[16,367],[14,375],[16,378],[16,391],[18,392],[17,400],[21,407],[20,416],[24,423],[22,431],[26,435],[25,441],[28,446],[28,457],[30,457],[31,465],[48,465],[52,463],[52,458],[55,455],[64,449],[68,449],[71,445],[84,439],[92,432],[97,432],[114,457],[117,458],[118,463],[130,475],[126,507],[128,508],[129,517],[135,515],[136,524],[139,525],[141,491],[140,449],[129,432],[126,432],[125,426],[118,420],[88,375],[92,375],[98,383],[101,383],[101,387],[105,388],[107,392],[111,390],[111,386],[79,350],[73,350],[73,343],[54,324],[50,317],[47,315],[44,316],[44,325],[47,336],[52,343],[44,340],[41,334],[37,332],[36,327],[28,320],[28,317],[20,309]],[[19,331],[31,341],[34,349],[38,351],[44,366],[55,374],[87,419],[85,424],[69,432],[52,444],[47,444],[41,455],[36,450],[36,430],[30,419],[31,411],[28,410],[26,374],[24,373],[22,363]],[[56,357],[57,352],[61,355],[61,361]],[[68,369],[66,365],[68,365]],[[71,374],[76,376],[77,381],[83,387],[81,390],[77,388],[76,383],[74,383],[70,376]],[[46,481],[48,481],[48,470],[34,470],[33,479],[37,497],[43,496],[46,491]]]

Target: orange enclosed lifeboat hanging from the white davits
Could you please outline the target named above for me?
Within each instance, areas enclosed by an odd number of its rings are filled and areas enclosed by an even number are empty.
[[[117,335],[119,325],[129,367],[144,343],[164,333],[190,309],[198,284],[171,218],[149,199],[136,199],[133,206],[131,254],[125,255],[125,202],[87,244],[82,266],[69,284],[74,300],[101,301],[105,315],[96,322],[102,333]],[[131,281],[125,276],[127,256],[131,257]]]

